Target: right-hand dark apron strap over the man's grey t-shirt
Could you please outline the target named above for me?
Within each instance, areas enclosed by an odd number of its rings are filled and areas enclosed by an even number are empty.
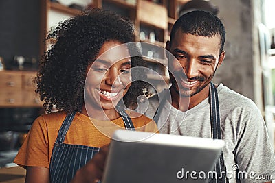
[[[221,139],[221,121],[219,116],[219,99],[218,92],[214,84],[210,83],[210,115],[211,115],[211,127],[212,127],[212,139]],[[222,175],[221,180],[208,180],[208,182],[228,182],[226,177],[226,167],[223,160],[223,152],[219,155],[219,161],[215,166],[217,176]],[[223,173],[223,174],[221,174]]]

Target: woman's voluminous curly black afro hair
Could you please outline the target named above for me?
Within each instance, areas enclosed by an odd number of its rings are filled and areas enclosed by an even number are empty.
[[[54,105],[68,113],[81,112],[87,67],[96,60],[104,42],[133,42],[134,29],[131,21],[118,14],[93,9],[58,23],[46,38],[52,39],[56,43],[44,53],[35,78],[36,93],[45,101],[46,112]],[[144,66],[144,62],[131,58],[131,66]],[[133,82],[124,96],[125,105],[133,105],[145,86],[142,81]]]

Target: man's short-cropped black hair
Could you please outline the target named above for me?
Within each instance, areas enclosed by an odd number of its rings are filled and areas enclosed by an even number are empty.
[[[175,38],[175,32],[181,28],[183,33],[196,36],[219,36],[221,38],[220,53],[223,51],[225,42],[225,28],[221,20],[210,12],[195,10],[183,14],[177,19],[170,34],[170,42]]]

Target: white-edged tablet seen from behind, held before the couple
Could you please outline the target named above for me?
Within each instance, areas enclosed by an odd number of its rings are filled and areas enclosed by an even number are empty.
[[[102,182],[207,182],[223,145],[210,138],[117,130]]]

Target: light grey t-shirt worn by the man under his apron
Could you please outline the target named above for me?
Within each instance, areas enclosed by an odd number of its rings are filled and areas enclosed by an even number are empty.
[[[223,84],[219,84],[217,92],[221,136],[225,141],[223,156],[230,182],[274,180],[274,151],[270,145],[261,112],[252,100],[230,90]],[[165,95],[170,95],[168,93],[169,90],[164,90],[159,96],[162,98]],[[155,119],[159,131],[165,134],[211,138],[210,104],[208,101],[207,98],[190,110],[181,112],[173,108],[166,99],[162,109],[159,109],[159,119]],[[157,106],[159,106],[157,97],[149,99],[145,115],[153,118]]]

